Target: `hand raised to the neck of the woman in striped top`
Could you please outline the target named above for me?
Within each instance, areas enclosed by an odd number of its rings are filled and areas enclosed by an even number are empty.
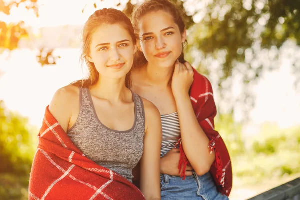
[[[172,77],[172,92],[175,99],[182,94],[188,94],[192,82],[192,66],[188,62],[182,64],[177,60],[175,62],[175,69]]]

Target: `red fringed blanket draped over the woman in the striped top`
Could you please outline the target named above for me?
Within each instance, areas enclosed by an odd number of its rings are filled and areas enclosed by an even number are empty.
[[[210,173],[214,179],[217,189],[222,194],[229,196],[232,188],[232,168],[229,152],[226,145],[217,131],[214,130],[214,117],[216,106],[213,99],[212,87],[209,80],[194,70],[194,81],[190,89],[190,99],[197,120],[203,131],[209,138],[209,148],[215,151],[215,161],[213,162]],[[181,177],[185,179],[186,165],[190,165],[182,146],[181,138],[178,140],[180,148],[180,160],[178,169],[183,167]]]

